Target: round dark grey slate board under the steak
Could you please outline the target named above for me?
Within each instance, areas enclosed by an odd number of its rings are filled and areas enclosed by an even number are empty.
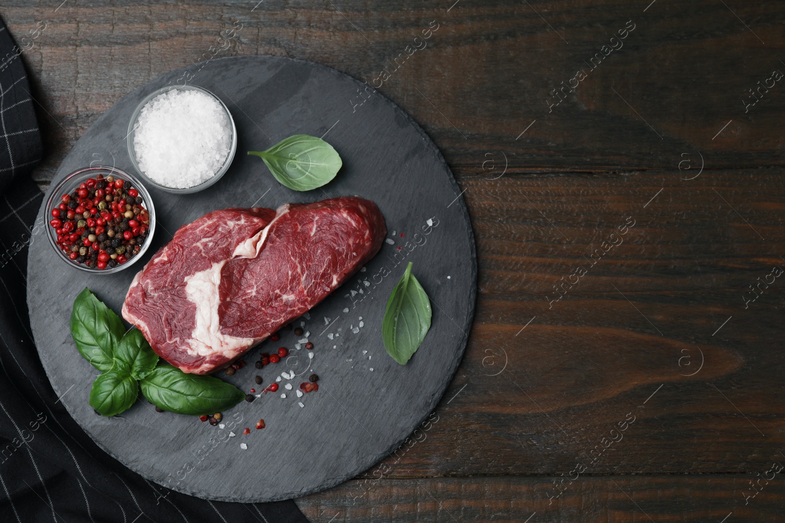
[[[185,71],[164,74],[111,107],[75,144],[54,182],[91,163],[133,172],[125,137],[134,107],[152,90],[182,82]],[[177,227],[205,212],[253,205],[276,209],[286,202],[346,194],[376,202],[389,241],[363,272],[314,307],[309,319],[294,322],[305,321],[314,350],[296,350],[294,332],[282,330],[279,342],[250,350],[248,365],[234,376],[220,373],[246,391],[261,389],[254,383],[257,374],[265,386],[280,372],[298,374],[282,380],[277,393],[224,412],[223,429],[195,416],[157,413],[144,399],[111,418],[93,411],[88,398],[98,371],[71,340],[71,304],[87,286],[119,312],[142,261],[118,274],[79,271],[57,260],[42,227],[34,235],[27,267],[27,305],[38,354],[71,416],[111,456],[144,477],[207,499],[263,502],[304,496],[383,459],[444,394],[474,311],[476,258],[469,216],[433,142],[369,86],[329,67],[273,56],[210,60],[201,71],[190,71],[195,73],[190,83],[215,93],[232,112],[237,154],[228,173],[206,191],[174,195],[150,188],[159,227],[144,263]],[[341,154],[341,171],[322,189],[290,191],[260,158],[245,154],[299,133],[326,133],[325,140]],[[44,219],[46,211],[40,210]],[[402,366],[385,353],[381,331],[387,299],[408,261],[432,299],[433,325]],[[281,346],[290,349],[290,358],[254,368],[260,351]],[[312,372],[319,374],[319,390],[297,398],[299,384]],[[284,387],[289,382],[292,390]],[[256,430],[260,418],[267,427]],[[247,436],[245,427],[251,429]]]

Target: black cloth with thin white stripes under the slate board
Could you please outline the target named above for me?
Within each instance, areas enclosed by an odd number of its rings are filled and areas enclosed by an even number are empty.
[[[43,198],[30,173],[42,144],[19,51],[0,20],[0,521],[308,523],[293,501],[210,502],[156,485],[99,449],[57,401],[27,317],[27,242]]]

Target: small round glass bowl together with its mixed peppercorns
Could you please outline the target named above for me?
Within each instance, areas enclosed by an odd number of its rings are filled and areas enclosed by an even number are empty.
[[[135,176],[105,165],[60,180],[46,212],[49,242],[62,260],[82,271],[122,271],[142,257],[155,232],[147,189]]]

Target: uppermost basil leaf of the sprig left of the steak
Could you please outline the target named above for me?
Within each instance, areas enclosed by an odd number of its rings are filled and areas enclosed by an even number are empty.
[[[71,311],[71,337],[82,358],[100,371],[111,369],[114,348],[126,329],[114,311],[100,302],[90,289],[79,292]]]

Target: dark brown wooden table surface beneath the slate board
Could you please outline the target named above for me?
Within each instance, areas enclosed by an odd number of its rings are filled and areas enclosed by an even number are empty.
[[[256,2],[0,16],[46,21],[42,188],[210,46],[364,79],[444,153],[480,263],[466,357],[403,449],[298,499],[312,521],[783,521],[780,2]]]

